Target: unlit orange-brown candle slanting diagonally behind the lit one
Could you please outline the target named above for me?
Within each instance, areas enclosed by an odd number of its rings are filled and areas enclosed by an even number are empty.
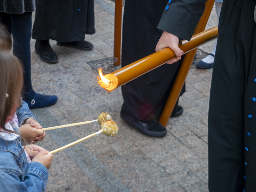
[[[211,14],[213,4],[214,4],[214,0],[208,0],[205,3],[204,14],[200,18],[194,34],[204,31],[207,21],[209,19],[209,16]],[[183,62],[180,67],[180,71],[176,77],[175,83],[173,84],[172,90],[170,92],[168,100],[166,101],[166,104],[164,106],[164,110],[159,119],[159,122],[164,126],[166,126],[166,124],[172,114],[174,105],[179,98],[180,91],[181,91],[182,86],[185,82],[185,79],[188,75],[189,68],[191,66],[192,61],[194,60],[195,55],[196,55],[196,50],[197,49],[194,49],[193,51],[188,52],[183,59]]]

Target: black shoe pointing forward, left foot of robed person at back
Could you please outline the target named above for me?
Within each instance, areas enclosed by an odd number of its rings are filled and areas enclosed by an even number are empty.
[[[58,56],[53,51],[51,45],[49,44],[49,39],[38,41],[36,40],[36,53],[39,54],[42,61],[46,63],[56,63],[58,62]]]

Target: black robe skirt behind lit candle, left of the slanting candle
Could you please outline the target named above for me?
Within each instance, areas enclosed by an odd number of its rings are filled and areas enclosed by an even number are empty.
[[[125,1],[122,67],[155,52],[156,44],[163,32],[157,25],[167,2]],[[143,122],[158,120],[179,68],[180,61],[172,65],[164,64],[123,85],[122,109]]]

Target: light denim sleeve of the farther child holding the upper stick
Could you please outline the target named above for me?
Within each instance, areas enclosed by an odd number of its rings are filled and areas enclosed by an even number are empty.
[[[23,100],[21,101],[22,101],[21,107],[17,108],[17,111],[16,111],[18,121],[19,121],[19,126],[23,125],[24,121],[28,118],[33,118],[36,120],[36,116],[28,108],[28,103],[26,103]]]

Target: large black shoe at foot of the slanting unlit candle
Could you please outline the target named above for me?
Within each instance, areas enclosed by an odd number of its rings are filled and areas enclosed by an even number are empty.
[[[127,115],[123,110],[120,112],[120,116],[128,124],[134,126],[138,131],[144,133],[145,135],[154,137],[163,137],[166,135],[166,128],[160,124],[158,121],[152,122],[141,122],[133,117]]]

